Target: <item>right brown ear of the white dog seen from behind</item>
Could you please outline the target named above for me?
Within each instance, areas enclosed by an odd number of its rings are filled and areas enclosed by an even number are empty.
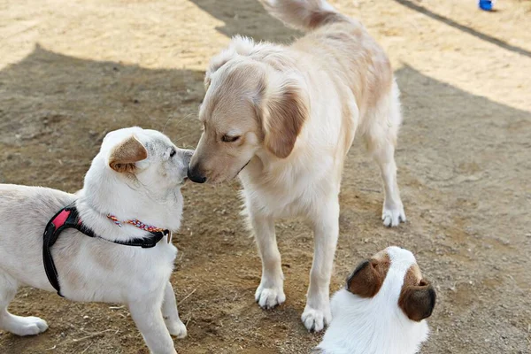
[[[427,280],[421,280],[419,285],[408,285],[404,282],[398,306],[409,319],[420,321],[431,316],[435,299],[435,289]]]

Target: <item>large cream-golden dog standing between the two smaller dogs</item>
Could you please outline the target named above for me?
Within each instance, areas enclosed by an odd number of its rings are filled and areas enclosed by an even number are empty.
[[[189,178],[240,176],[262,258],[256,300],[263,308],[286,299],[274,220],[310,220],[315,254],[302,320],[320,331],[331,319],[338,195],[356,133],[381,169],[383,224],[405,221],[394,158],[398,88],[384,51],[357,20],[321,0],[269,1],[266,8],[310,33],[289,46],[235,37],[212,58],[199,111],[204,134]]]

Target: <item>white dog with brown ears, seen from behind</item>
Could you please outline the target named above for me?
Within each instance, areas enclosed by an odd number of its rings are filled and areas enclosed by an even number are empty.
[[[427,340],[435,289],[409,250],[389,247],[359,264],[332,298],[321,354],[413,354]]]

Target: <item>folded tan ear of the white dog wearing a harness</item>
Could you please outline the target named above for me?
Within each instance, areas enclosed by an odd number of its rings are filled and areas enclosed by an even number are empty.
[[[112,149],[109,166],[119,173],[132,173],[135,172],[135,162],[145,158],[148,158],[148,151],[142,142],[131,135]]]

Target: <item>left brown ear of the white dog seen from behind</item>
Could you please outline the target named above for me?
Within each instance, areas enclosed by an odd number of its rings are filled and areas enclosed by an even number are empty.
[[[389,265],[379,265],[375,259],[367,259],[361,262],[347,279],[347,290],[361,297],[373,297],[381,288]],[[378,268],[381,269],[378,269]]]

